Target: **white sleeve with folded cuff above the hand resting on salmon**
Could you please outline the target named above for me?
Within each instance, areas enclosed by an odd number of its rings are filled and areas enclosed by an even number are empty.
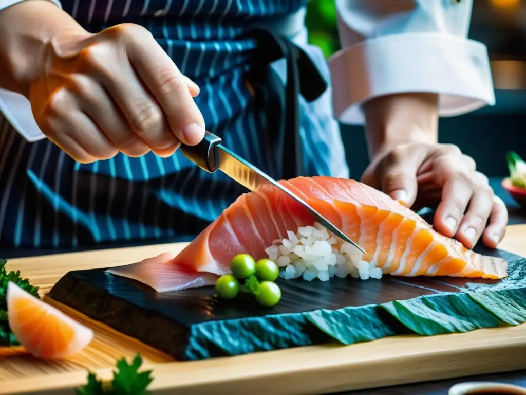
[[[469,40],[473,0],[335,0],[342,50],[330,60],[335,115],[363,124],[361,104],[439,94],[439,115],[495,104],[488,51]]]

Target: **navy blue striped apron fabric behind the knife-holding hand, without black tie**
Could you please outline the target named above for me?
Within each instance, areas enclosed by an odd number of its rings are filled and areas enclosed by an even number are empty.
[[[268,137],[267,103],[246,88],[254,42],[240,38],[252,23],[282,17],[305,0],[63,0],[88,31],[123,22],[146,26],[180,70],[201,87],[196,102],[207,130],[274,177],[281,159]],[[321,51],[306,43],[323,76]],[[283,73],[283,62],[275,65]],[[268,92],[262,92],[269,97]],[[300,100],[308,175],[348,176],[330,90]],[[79,164],[47,140],[27,143],[0,116],[0,245],[77,246],[101,241],[180,236],[188,239],[242,193],[220,172],[208,174],[179,152]]]

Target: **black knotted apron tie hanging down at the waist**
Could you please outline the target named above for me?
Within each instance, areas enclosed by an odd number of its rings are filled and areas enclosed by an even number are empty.
[[[269,97],[266,108],[269,136],[276,136],[272,145],[278,147],[282,157],[281,179],[289,180],[305,174],[300,137],[299,95],[306,101],[316,100],[327,89],[327,82],[309,55],[286,37],[272,34],[264,29],[254,29],[249,36],[256,40],[247,82],[252,88],[265,87],[278,108],[274,111]],[[270,63],[285,58],[287,80],[285,86],[279,76],[271,70]],[[255,92],[261,92],[256,90]],[[256,94],[256,101],[264,100]],[[272,128],[276,132],[272,132]]]

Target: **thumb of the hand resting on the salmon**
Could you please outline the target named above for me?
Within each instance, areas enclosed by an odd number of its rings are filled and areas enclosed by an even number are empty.
[[[417,171],[416,161],[409,158],[388,161],[382,166],[379,177],[382,191],[392,199],[411,207],[417,198]]]

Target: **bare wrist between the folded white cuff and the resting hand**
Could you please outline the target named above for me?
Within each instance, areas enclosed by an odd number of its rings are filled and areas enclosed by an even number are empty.
[[[373,98],[363,105],[371,157],[387,147],[438,142],[438,95],[403,93]]]

